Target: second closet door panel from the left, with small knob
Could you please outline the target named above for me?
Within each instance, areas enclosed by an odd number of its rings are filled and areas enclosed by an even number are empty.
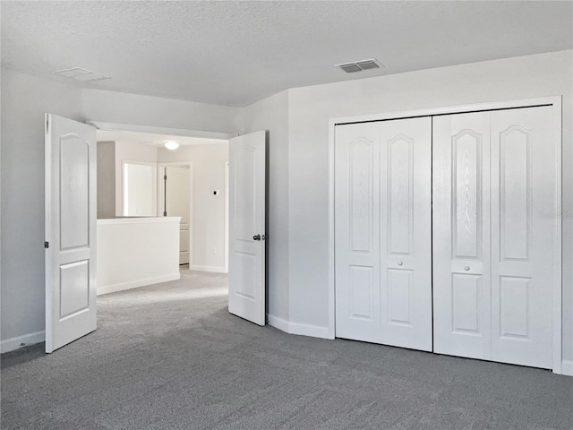
[[[432,118],[381,125],[381,343],[432,350]]]

